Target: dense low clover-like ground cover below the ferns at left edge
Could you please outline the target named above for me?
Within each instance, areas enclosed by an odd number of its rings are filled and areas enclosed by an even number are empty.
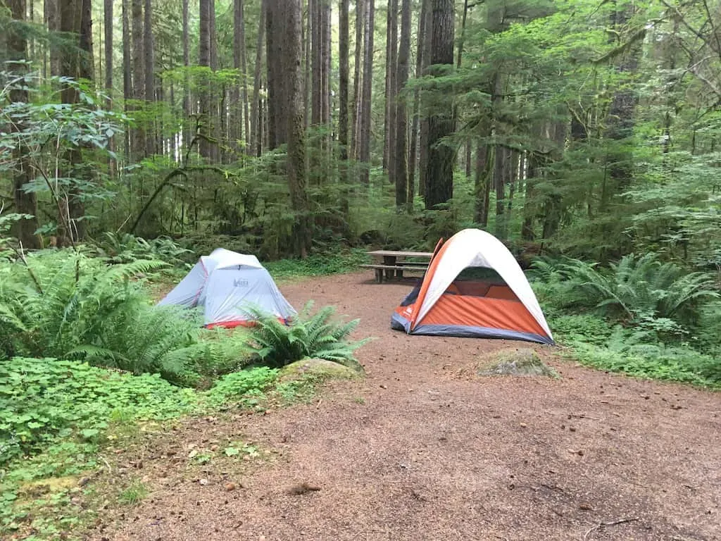
[[[196,407],[193,390],[76,361],[0,361],[0,464],[60,438],[92,439],[115,416],[164,419]]]

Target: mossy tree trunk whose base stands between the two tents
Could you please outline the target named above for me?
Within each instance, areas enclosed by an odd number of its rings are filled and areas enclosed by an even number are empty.
[[[279,32],[273,42],[282,40],[285,43],[280,61],[285,76],[282,96],[285,101],[283,120],[286,123],[288,140],[288,188],[291,191],[291,206],[296,214],[293,223],[293,247],[296,255],[305,258],[311,248],[312,223],[305,178],[301,0],[275,1],[280,4],[279,9],[271,10],[272,17],[271,12],[268,17],[273,20],[273,30]],[[279,20],[281,17],[285,19],[282,22]]]

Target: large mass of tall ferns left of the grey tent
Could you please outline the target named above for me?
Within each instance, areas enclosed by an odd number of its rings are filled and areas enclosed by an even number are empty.
[[[180,384],[237,368],[238,340],[207,340],[199,315],[154,307],[134,281],[156,260],[106,265],[70,251],[0,265],[0,356],[84,359]]]

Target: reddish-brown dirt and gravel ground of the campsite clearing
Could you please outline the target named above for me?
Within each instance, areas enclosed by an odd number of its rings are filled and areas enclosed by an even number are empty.
[[[389,325],[410,283],[368,278],[281,286],[296,307],[361,317],[358,335],[376,338],[358,351],[366,380],[158,436],[149,496],[89,538],[721,540],[720,393],[592,371],[546,346],[410,337]],[[479,356],[528,346],[562,379],[469,375]],[[232,438],[265,458],[184,466],[189,449]]]

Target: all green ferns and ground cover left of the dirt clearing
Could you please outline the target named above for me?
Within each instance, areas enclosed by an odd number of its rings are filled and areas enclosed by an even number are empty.
[[[358,320],[334,307],[309,303],[287,325],[257,312],[258,325],[231,331],[205,329],[198,309],[155,306],[151,292],[177,282],[188,259],[170,239],[111,235],[0,258],[0,537],[53,538],[87,520],[71,504],[80,478],[144,423],[309,397],[317,379],[278,379],[300,359],[363,371],[353,351],[365,340],[349,338]],[[349,252],[275,265],[293,277],[357,263]],[[58,479],[67,485],[32,497],[35,483]],[[121,503],[142,493],[128,491]]]

